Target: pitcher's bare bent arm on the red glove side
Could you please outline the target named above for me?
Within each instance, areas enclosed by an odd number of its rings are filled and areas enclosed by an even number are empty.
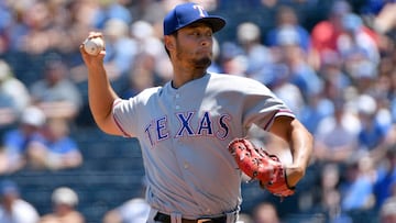
[[[270,132],[289,145],[293,163],[285,167],[287,183],[294,187],[305,176],[314,149],[314,137],[297,119],[283,115],[275,119]]]

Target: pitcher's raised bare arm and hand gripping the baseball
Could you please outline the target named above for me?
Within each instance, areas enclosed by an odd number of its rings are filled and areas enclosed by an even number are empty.
[[[89,33],[88,37],[102,37],[101,33]],[[80,53],[88,68],[88,101],[94,120],[99,129],[108,134],[123,135],[112,118],[112,104],[119,97],[112,89],[107,76],[103,58],[106,51],[91,56],[80,45]]]

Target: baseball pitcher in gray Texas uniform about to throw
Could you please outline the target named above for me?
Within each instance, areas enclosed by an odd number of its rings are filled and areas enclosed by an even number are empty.
[[[90,55],[80,46],[97,125],[140,142],[152,208],[147,222],[234,223],[242,172],[274,194],[292,196],[308,166],[312,136],[261,82],[207,71],[212,35],[226,25],[224,19],[189,2],[168,12],[163,25],[173,78],[128,100],[109,82],[106,49]],[[96,37],[102,34],[88,36]],[[293,163],[283,165],[250,144],[246,133],[253,124],[285,140]]]

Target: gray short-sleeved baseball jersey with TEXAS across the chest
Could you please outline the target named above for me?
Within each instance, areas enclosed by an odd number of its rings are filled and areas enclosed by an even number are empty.
[[[148,203],[187,219],[239,209],[241,172],[228,144],[252,124],[267,130],[278,115],[294,116],[265,86],[222,74],[178,89],[167,82],[113,104],[121,131],[139,138]]]

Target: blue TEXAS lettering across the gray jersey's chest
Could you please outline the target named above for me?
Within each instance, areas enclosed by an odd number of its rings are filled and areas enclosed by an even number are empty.
[[[189,111],[184,113],[176,113],[176,121],[179,129],[172,133],[168,125],[168,118],[166,115],[152,120],[144,132],[152,146],[157,142],[174,137],[194,137],[194,136],[215,136],[223,140],[229,135],[229,121],[231,116],[227,113],[212,116],[210,112],[204,112],[200,116],[197,112]]]

